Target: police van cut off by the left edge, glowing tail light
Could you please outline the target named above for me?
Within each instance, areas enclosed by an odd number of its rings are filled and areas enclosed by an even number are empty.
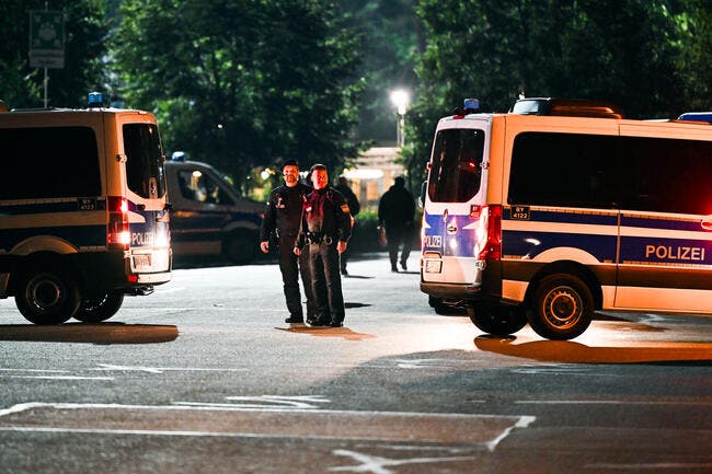
[[[35,324],[114,315],[171,278],[163,151],[153,115],[0,112],[0,298]]]

